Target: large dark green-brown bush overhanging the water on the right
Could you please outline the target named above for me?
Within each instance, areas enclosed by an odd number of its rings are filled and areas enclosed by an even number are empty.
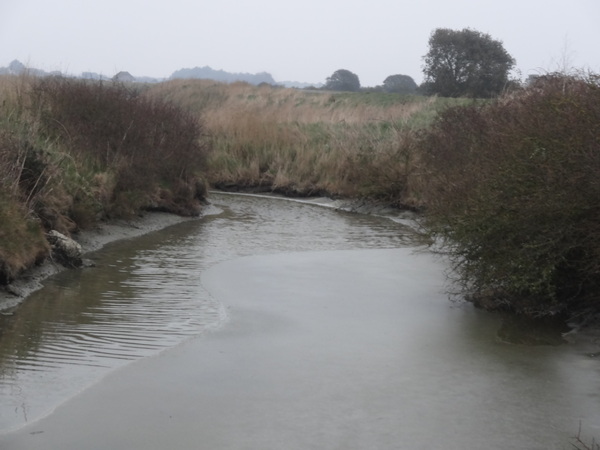
[[[449,109],[420,145],[427,225],[471,300],[531,316],[600,306],[598,77]]]

